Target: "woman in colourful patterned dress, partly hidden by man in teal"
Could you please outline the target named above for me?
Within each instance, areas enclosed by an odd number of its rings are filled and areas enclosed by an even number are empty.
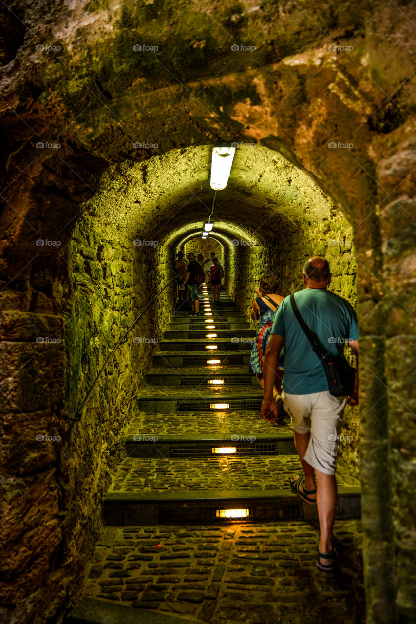
[[[260,321],[260,329],[251,350],[249,372],[256,373],[262,388],[264,388],[263,356],[269,342],[274,314],[283,301],[283,296],[277,295],[276,290],[278,290],[278,281],[274,275],[272,273],[262,275],[256,291],[257,297],[253,301],[253,310],[251,311],[253,321]],[[280,359],[279,370],[282,367],[283,358]],[[276,374],[276,379],[279,379],[279,373]],[[280,389],[276,388],[275,381],[273,381],[273,397],[276,398],[279,394]]]

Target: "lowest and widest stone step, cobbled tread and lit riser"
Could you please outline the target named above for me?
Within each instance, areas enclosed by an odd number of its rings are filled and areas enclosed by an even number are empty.
[[[316,505],[292,494],[301,472],[297,455],[218,459],[137,459],[120,462],[104,499],[107,525],[208,524],[317,517]],[[337,470],[337,519],[360,517],[360,486]]]

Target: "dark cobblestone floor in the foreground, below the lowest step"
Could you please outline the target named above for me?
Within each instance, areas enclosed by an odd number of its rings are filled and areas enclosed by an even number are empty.
[[[107,527],[84,595],[212,624],[362,624],[362,528],[336,522],[344,557],[317,570],[307,522]]]

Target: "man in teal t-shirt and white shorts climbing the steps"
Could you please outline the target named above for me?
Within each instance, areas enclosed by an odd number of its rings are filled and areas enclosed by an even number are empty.
[[[327,291],[331,277],[325,258],[309,258],[303,268],[304,290],[297,292],[294,299],[287,297],[281,303],[264,354],[261,406],[264,418],[277,417],[273,397],[274,371],[286,341],[282,398],[292,419],[294,443],[304,472],[290,480],[290,487],[302,500],[317,504],[320,538],[316,565],[323,572],[332,572],[342,555],[342,545],[334,540],[333,535],[337,508],[336,460],[344,408],[347,402],[353,406],[358,401],[356,313],[348,301]],[[307,331],[328,357],[342,356],[344,344],[349,343],[357,365],[355,386],[350,396],[336,397],[329,392],[322,360],[312,349],[297,319],[296,309]]]

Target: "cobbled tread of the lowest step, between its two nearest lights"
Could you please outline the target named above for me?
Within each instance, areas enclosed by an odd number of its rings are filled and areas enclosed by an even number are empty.
[[[297,455],[218,459],[139,459],[117,466],[110,492],[196,492],[206,490],[288,489],[289,477],[301,472]],[[359,485],[339,464],[338,485]]]

